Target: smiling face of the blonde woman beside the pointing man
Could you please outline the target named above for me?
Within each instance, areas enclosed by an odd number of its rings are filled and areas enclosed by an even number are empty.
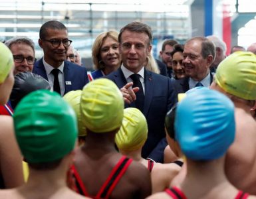
[[[100,47],[100,58],[106,68],[117,68],[121,64],[118,42],[111,37],[106,37]]]

